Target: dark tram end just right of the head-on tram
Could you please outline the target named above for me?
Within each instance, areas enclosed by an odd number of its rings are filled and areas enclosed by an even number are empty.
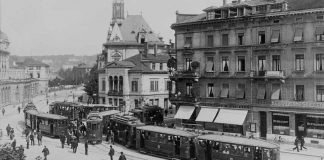
[[[144,125],[138,118],[128,115],[114,115],[110,120],[115,142],[128,148],[135,147],[136,128]]]

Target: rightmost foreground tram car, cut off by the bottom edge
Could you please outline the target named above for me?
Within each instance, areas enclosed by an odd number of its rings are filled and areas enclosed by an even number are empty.
[[[267,141],[225,135],[197,137],[199,160],[279,160],[279,146]]]

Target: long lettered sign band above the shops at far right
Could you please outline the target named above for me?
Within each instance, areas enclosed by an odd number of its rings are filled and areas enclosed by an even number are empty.
[[[271,106],[324,108],[324,103],[323,102],[271,101]]]

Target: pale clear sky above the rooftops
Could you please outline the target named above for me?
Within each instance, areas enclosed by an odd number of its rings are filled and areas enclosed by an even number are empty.
[[[13,55],[94,55],[102,50],[113,0],[0,0],[1,30]],[[165,42],[179,13],[199,14],[222,0],[124,0],[125,15],[142,14]],[[173,40],[174,41],[174,40]]]

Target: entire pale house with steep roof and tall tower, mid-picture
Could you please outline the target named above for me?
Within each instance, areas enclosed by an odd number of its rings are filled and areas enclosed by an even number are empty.
[[[114,0],[112,8],[111,29],[97,60],[99,102],[126,106],[127,111],[145,104],[165,106],[167,45],[142,15],[124,16],[123,0]]]

